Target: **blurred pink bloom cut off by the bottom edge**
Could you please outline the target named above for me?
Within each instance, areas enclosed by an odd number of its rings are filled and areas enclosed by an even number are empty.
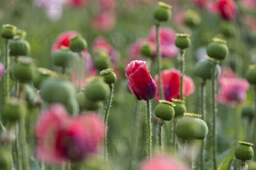
[[[139,170],[190,170],[186,164],[167,154],[156,155],[152,160],[145,160]]]

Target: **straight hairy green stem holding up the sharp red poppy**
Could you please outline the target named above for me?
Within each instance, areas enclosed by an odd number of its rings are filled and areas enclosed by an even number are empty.
[[[147,125],[148,125],[148,159],[151,161],[151,156],[152,156],[152,129],[151,129],[151,103],[148,100],[147,101]]]

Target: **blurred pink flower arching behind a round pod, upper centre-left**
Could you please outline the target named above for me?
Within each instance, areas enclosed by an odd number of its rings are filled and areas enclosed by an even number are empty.
[[[92,46],[92,51],[93,53],[97,53],[97,52],[107,53],[111,57],[111,62],[113,63],[113,67],[117,68],[119,66],[119,59],[120,59],[119,52],[116,51],[116,49],[114,49],[111,43],[106,39],[107,38],[103,37],[102,35],[100,35],[99,37],[96,37]]]

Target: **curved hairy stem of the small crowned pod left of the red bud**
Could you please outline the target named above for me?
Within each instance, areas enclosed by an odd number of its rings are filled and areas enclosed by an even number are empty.
[[[104,118],[104,123],[105,123],[104,160],[105,160],[106,165],[107,165],[107,162],[108,162],[108,147],[107,147],[108,116],[109,116],[109,111],[110,111],[111,103],[112,103],[112,99],[113,99],[114,85],[110,84],[109,88],[110,88],[110,95],[109,95],[109,98],[108,98],[108,106],[107,106],[106,113],[105,113],[105,118]]]

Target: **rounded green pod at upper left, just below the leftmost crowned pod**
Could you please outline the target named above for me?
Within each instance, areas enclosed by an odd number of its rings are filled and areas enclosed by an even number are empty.
[[[10,55],[29,55],[30,44],[23,38],[9,40]]]

